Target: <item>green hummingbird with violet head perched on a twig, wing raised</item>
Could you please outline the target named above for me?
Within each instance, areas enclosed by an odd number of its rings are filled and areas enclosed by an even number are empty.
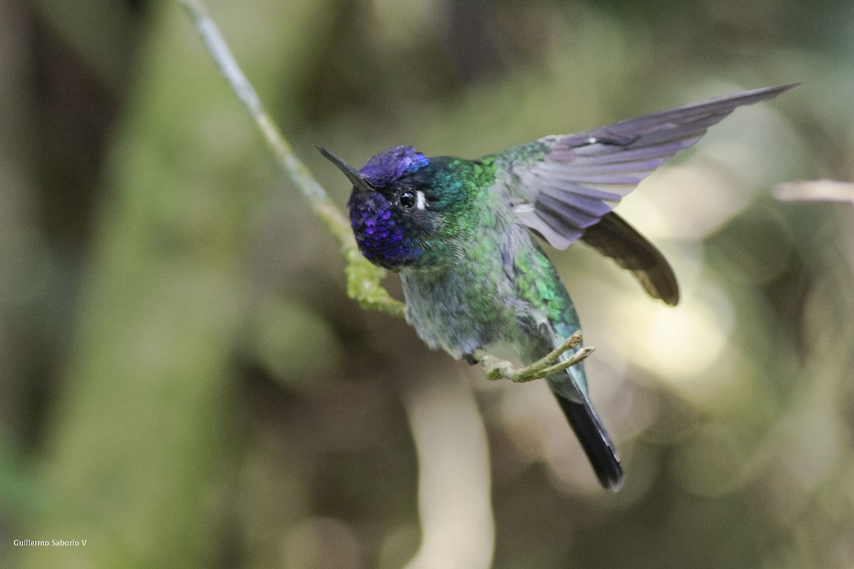
[[[528,365],[581,328],[541,242],[565,249],[582,241],[629,270],[652,298],[676,305],[679,287],[664,255],[612,210],[736,107],[795,86],[545,136],[477,160],[398,146],[357,170],[319,150],[353,184],[348,210],[360,252],[400,275],[418,336],[471,363],[477,350],[509,345]],[[546,380],[601,485],[619,490],[623,467],[590,401],[584,363]]]

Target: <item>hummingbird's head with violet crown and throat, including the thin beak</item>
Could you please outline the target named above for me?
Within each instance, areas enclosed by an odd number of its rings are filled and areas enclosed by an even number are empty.
[[[436,159],[399,146],[356,170],[325,148],[319,150],[353,183],[350,225],[365,258],[390,270],[442,264],[449,202],[436,187]]]

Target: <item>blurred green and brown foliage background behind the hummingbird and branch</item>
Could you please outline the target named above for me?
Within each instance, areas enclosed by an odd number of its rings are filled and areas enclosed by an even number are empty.
[[[681,305],[582,246],[552,255],[597,347],[592,394],[627,472],[612,495],[541,382],[490,384],[347,298],[335,241],[175,3],[3,0],[0,566],[407,566],[412,429],[454,412],[428,390],[419,423],[427,386],[474,393],[458,433],[488,433],[495,569],[854,567],[854,208],[771,195],[854,179],[854,3],[210,9],[341,206],[315,144],[356,165],[397,144],[475,157],[802,86],[620,206]]]

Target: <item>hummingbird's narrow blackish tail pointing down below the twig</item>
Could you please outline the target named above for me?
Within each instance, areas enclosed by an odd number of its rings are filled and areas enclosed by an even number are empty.
[[[560,408],[581,442],[600,484],[608,490],[618,491],[623,486],[623,467],[593,405],[588,401],[575,403],[557,393],[555,397],[558,398]]]

